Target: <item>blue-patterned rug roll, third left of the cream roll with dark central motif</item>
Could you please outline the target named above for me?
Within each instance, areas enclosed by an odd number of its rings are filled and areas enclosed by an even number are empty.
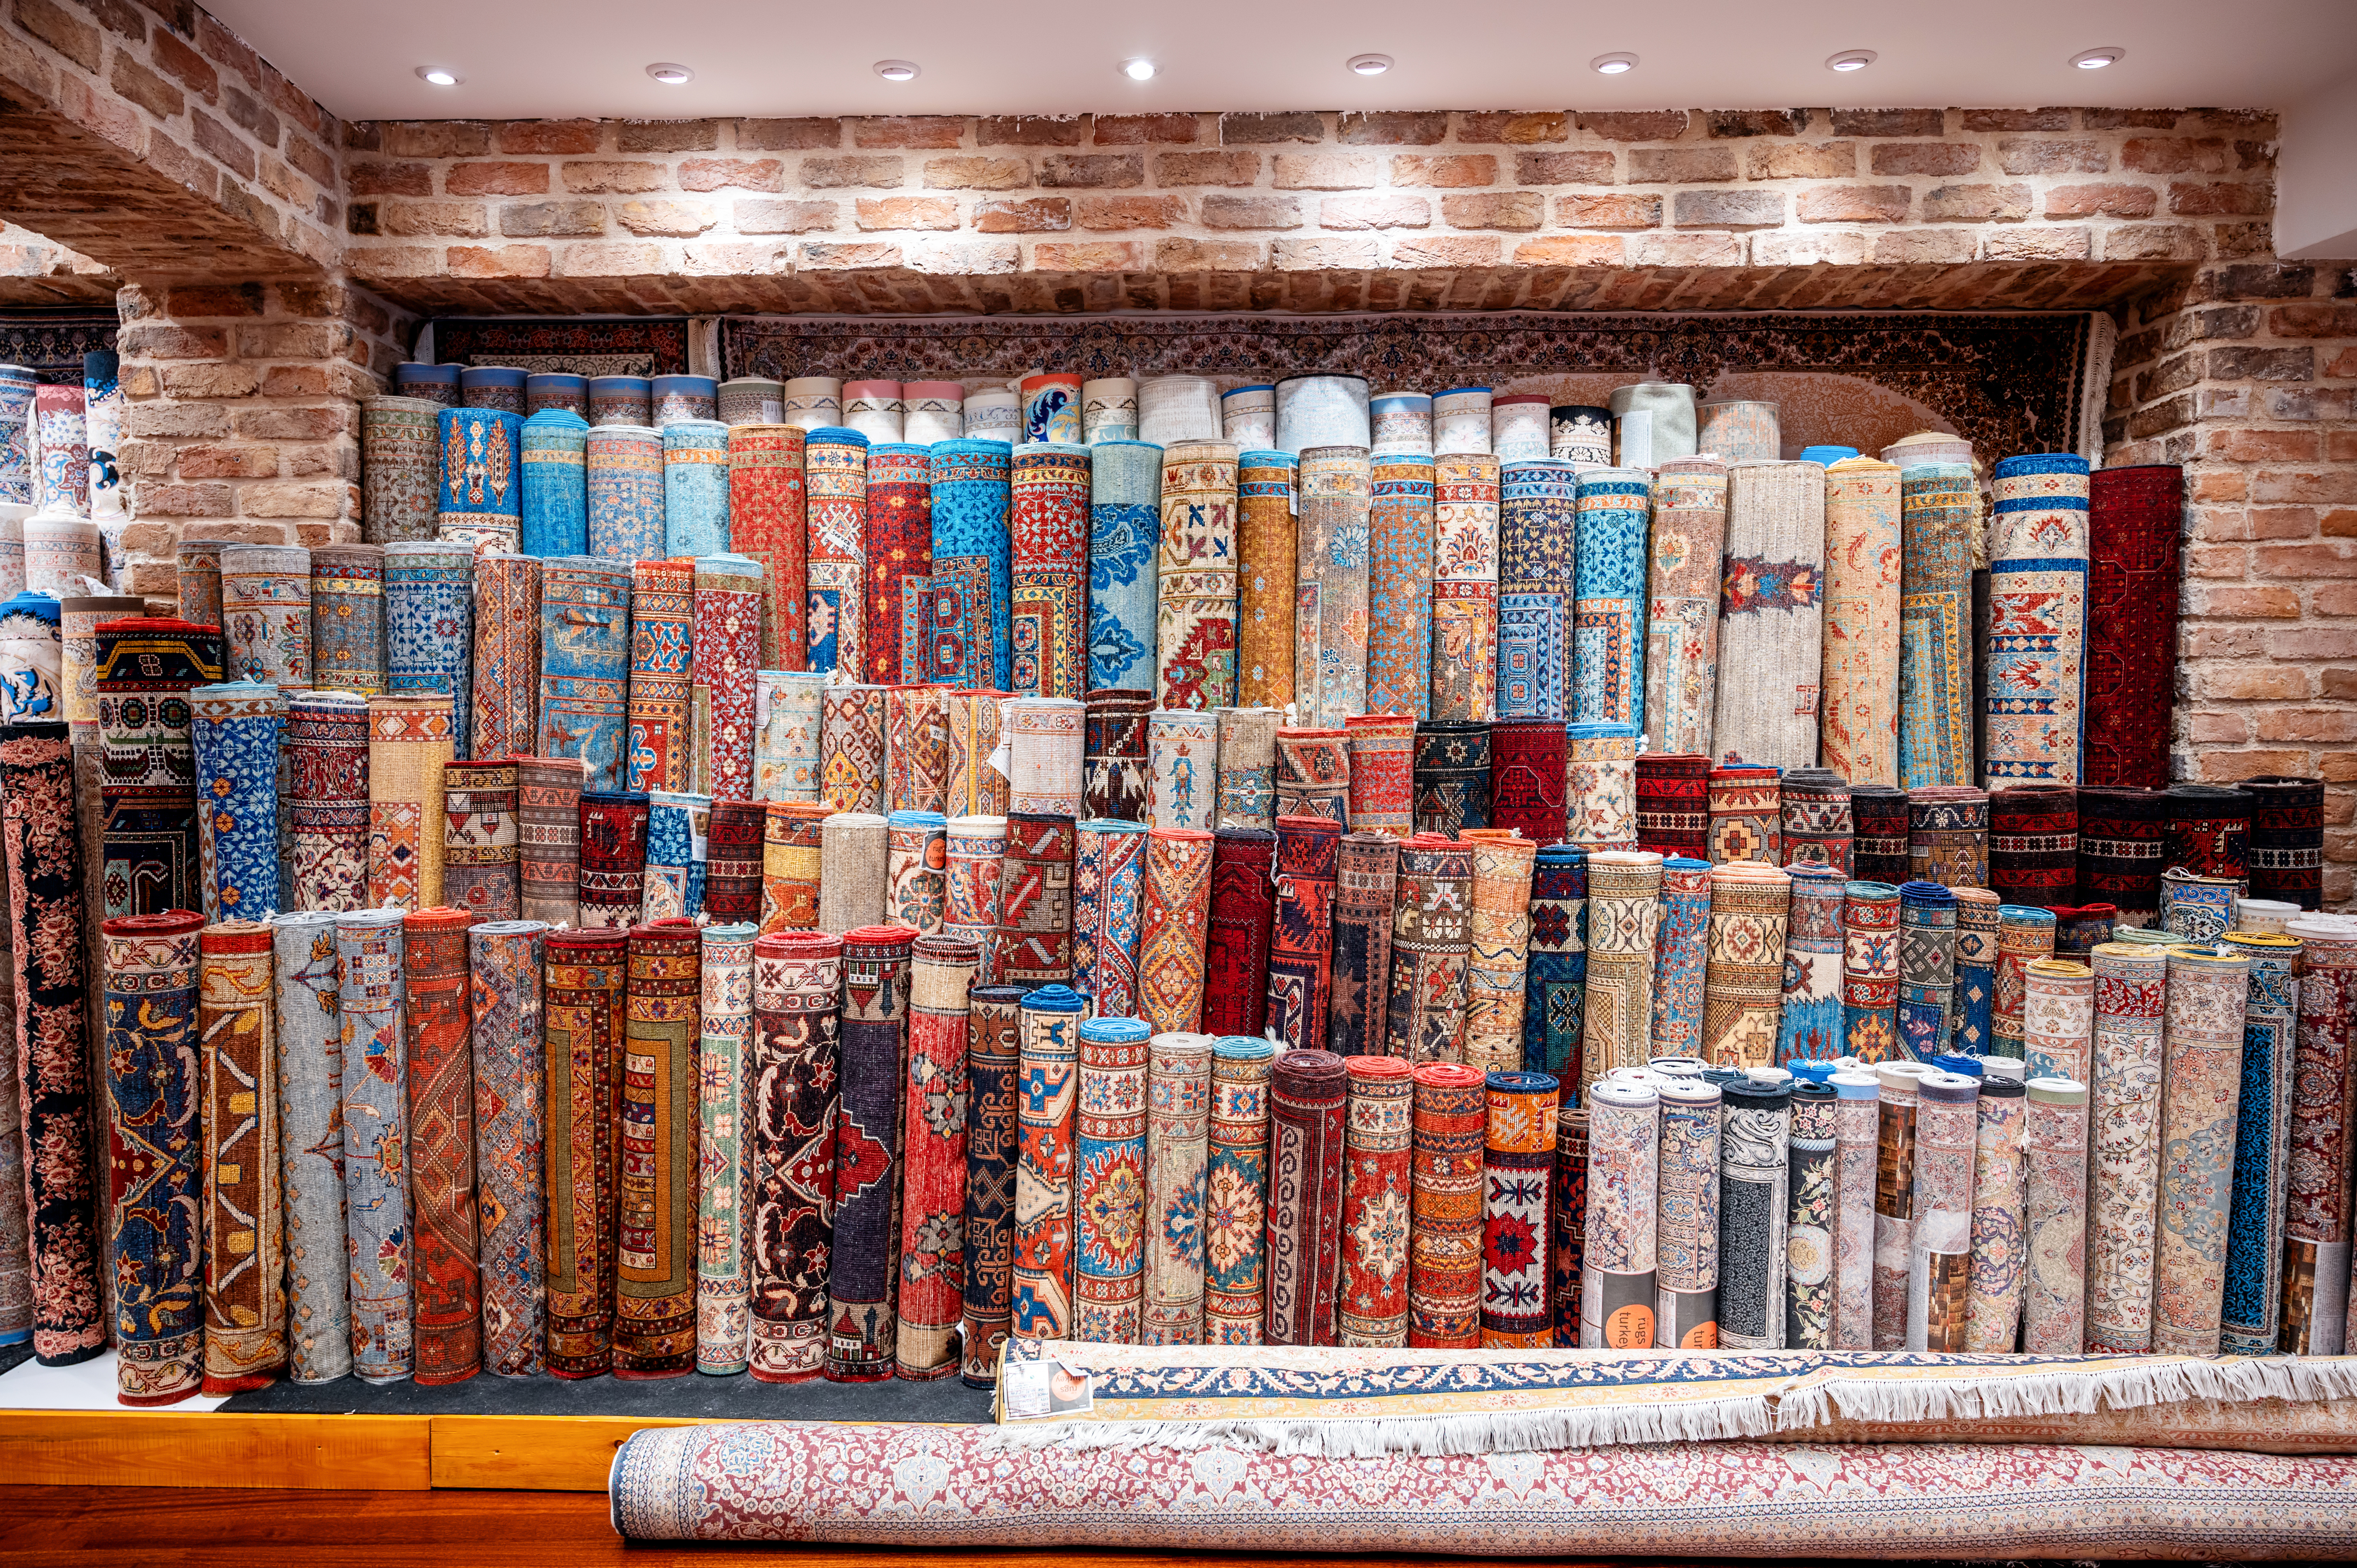
[[[1553,457],[1501,467],[1497,717],[1565,719],[1572,679],[1577,476]]]

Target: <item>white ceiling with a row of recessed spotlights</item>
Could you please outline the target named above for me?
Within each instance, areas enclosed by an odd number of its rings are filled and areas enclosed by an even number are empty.
[[[1252,108],[2282,106],[2357,68],[2357,0],[205,0],[377,118]],[[2126,47],[2107,71],[2069,57]],[[1619,78],[1586,68],[1633,50]],[[1867,71],[1824,68],[1876,50]],[[1379,78],[1343,68],[1384,52]],[[1117,64],[1162,73],[1129,83]],[[886,83],[877,59],[924,66]],[[695,68],[686,87],[651,61]],[[415,68],[450,66],[460,87]]]

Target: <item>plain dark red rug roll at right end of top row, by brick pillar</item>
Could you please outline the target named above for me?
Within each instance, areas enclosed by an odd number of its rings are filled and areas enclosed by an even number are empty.
[[[2086,743],[2079,783],[2168,783],[2185,472],[2095,469],[2086,516]]]

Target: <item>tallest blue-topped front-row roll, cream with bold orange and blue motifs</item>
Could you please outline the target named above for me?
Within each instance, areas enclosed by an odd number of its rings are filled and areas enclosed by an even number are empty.
[[[1072,1111],[1084,1007],[1065,986],[1042,986],[1023,997],[1009,1294],[1018,1339],[1072,1337]]]

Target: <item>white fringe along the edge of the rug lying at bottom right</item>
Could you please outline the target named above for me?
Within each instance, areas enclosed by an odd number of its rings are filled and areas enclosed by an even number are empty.
[[[1803,1386],[1805,1384],[1805,1386]],[[1669,1405],[1591,1410],[1480,1410],[1457,1415],[1233,1422],[1037,1422],[999,1424],[1006,1448],[1256,1448],[1277,1455],[1372,1460],[1379,1455],[1494,1455],[1619,1443],[1714,1443],[1761,1438],[1848,1417],[1857,1422],[1970,1422],[1980,1417],[2095,1415],[2197,1398],[2357,1398],[2357,1358],[2157,1361],[2100,1372],[2034,1377],[1831,1377],[1796,1372],[1780,1389]]]

